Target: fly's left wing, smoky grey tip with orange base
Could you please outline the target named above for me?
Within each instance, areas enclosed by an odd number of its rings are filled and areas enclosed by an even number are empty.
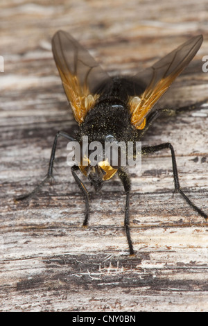
[[[55,33],[52,51],[74,118],[81,124],[99,96],[95,90],[101,92],[111,78],[69,33]]]

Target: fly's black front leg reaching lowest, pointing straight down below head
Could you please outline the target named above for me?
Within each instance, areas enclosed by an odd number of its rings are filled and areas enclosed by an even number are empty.
[[[130,189],[131,189],[131,182],[128,173],[126,173],[122,168],[118,169],[118,175],[123,183],[123,187],[125,190],[126,198],[125,198],[125,218],[124,218],[124,227],[125,227],[125,234],[128,240],[128,246],[130,255],[134,255],[135,251],[132,245],[132,240],[130,237],[130,228],[129,228],[129,199],[130,199]]]

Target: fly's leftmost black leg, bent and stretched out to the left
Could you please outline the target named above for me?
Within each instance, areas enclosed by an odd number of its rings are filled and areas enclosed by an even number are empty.
[[[52,150],[51,150],[51,158],[50,158],[50,161],[49,161],[49,170],[48,170],[48,173],[46,174],[44,180],[42,180],[42,182],[40,182],[39,185],[37,185],[37,187],[35,187],[35,189],[33,189],[33,191],[31,191],[30,193],[28,194],[24,194],[24,195],[21,195],[17,198],[15,198],[15,201],[19,201],[19,200],[24,200],[26,198],[31,198],[32,196],[34,196],[37,191],[40,189],[40,187],[42,187],[44,185],[44,183],[46,183],[47,181],[49,181],[50,183],[52,182],[53,180],[53,162],[54,162],[54,158],[55,158],[55,149],[56,149],[56,145],[57,145],[57,141],[58,141],[58,137],[64,137],[70,141],[74,141],[75,139],[73,139],[73,137],[69,136],[67,134],[67,132],[64,132],[64,131],[58,131],[57,134],[55,135],[55,139],[53,141],[53,147],[52,147]]]

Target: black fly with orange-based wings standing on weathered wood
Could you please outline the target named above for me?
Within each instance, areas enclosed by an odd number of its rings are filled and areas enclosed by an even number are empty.
[[[66,132],[57,133],[46,178],[30,194],[19,196],[17,200],[31,197],[46,181],[51,181],[55,148],[60,136],[69,141],[77,141],[81,148],[83,136],[88,137],[89,143],[100,141],[104,144],[106,141],[115,143],[123,141],[127,146],[128,141],[134,144],[141,141],[148,127],[161,112],[155,104],[173,80],[187,67],[201,44],[202,35],[198,35],[177,47],[162,60],[157,61],[153,67],[135,76],[111,78],[71,35],[64,31],[55,33],[52,40],[53,56],[79,131],[75,138]],[[142,147],[141,154],[162,151],[166,148],[171,151],[175,191],[180,192],[184,200],[200,216],[207,218],[207,214],[194,205],[180,187],[175,153],[170,143]],[[104,153],[101,160],[96,165],[92,165],[89,157],[85,156],[85,164],[83,160],[80,160],[79,164],[71,167],[73,178],[85,198],[83,225],[87,225],[89,220],[89,194],[83,182],[78,178],[77,172],[82,171],[96,191],[101,189],[103,182],[117,174],[126,194],[124,225],[130,255],[132,255],[134,249],[129,228],[130,176],[121,162],[113,165],[110,160],[106,162],[103,157]]]

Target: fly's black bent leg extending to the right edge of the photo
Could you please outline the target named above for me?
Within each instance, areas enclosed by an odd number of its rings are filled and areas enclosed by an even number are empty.
[[[169,148],[171,150],[171,156],[172,156],[172,164],[173,164],[173,179],[174,179],[174,184],[175,184],[175,191],[178,191],[184,200],[187,201],[187,203],[194,209],[200,216],[207,218],[207,214],[202,211],[202,209],[198,208],[196,205],[194,205],[191,200],[187,197],[187,195],[184,194],[184,191],[182,191],[180,187],[180,182],[178,179],[178,173],[177,173],[177,164],[175,160],[175,152],[173,149],[173,146],[170,143],[164,143],[156,146],[146,146],[141,148],[141,154],[149,154],[149,153],[154,153],[157,151],[162,151],[163,149]]]

